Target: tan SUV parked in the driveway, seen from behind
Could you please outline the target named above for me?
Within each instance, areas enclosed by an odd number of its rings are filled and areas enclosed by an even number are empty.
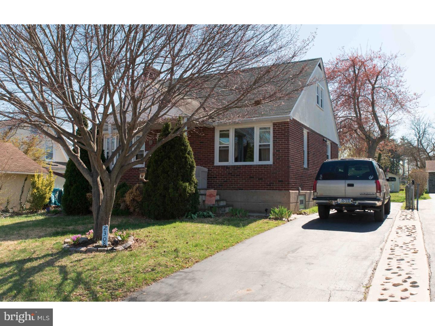
[[[322,163],[313,186],[314,201],[321,219],[330,210],[353,212],[372,210],[375,220],[382,222],[390,213],[390,187],[382,167],[375,160],[348,158]]]

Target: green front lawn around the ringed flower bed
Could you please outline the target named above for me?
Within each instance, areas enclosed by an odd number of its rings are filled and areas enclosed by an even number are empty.
[[[252,218],[153,221],[113,217],[110,229],[142,239],[133,250],[70,254],[66,237],[91,216],[33,214],[0,219],[0,301],[111,301],[284,223]]]

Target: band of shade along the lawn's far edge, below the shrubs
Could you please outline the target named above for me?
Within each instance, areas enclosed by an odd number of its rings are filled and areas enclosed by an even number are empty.
[[[174,223],[214,224],[245,227],[261,218],[251,217],[214,217],[196,220],[151,220],[137,216],[113,216],[110,228],[128,229],[130,231],[152,226],[165,226]],[[92,229],[92,216],[45,216],[38,220],[21,220],[0,226],[0,241],[40,239],[44,237],[62,237],[70,234],[84,234]]]

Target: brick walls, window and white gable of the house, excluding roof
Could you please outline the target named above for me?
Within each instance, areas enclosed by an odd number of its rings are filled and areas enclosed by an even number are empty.
[[[293,211],[311,207],[312,184],[321,163],[338,158],[323,62],[317,58],[297,64],[306,68],[301,82],[311,85],[294,99],[269,110],[254,108],[238,123],[214,123],[188,133],[196,165],[207,171],[206,187],[218,190],[224,206],[258,213],[278,205]],[[155,130],[150,135],[139,155],[155,144],[157,134]],[[107,155],[110,142],[114,146],[116,137],[107,138]],[[128,170],[121,182],[140,182],[143,167]]]

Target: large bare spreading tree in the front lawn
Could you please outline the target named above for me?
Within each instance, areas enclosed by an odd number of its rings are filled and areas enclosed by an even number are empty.
[[[184,130],[295,96],[306,86],[297,82],[305,67],[291,69],[291,62],[313,38],[299,40],[297,29],[277,25],[1,26],[0,114],[64,148],[92,185],[98,239],[125,171]],[[136,160],[150,130],[178,115],[181,128]],[[102,162],[105,126],[119,146]],[[89,153],[90,170],[80,149]]]

